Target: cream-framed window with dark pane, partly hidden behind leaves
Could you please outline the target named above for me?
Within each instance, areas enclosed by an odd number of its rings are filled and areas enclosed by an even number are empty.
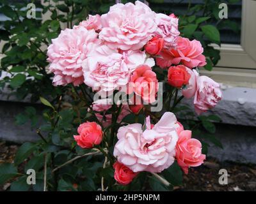
[[[191,0],[191,4],[204,3],[204,0]],[[189,0],[164,0],[164,3],[150,3],[156,11],[183,15]],[[234,32],[223,26],[220,29],[221,60],[209,75],[218,82],[256,88],[256,1],[241,0],[228,5],[228,19],[237,22],[239,31]],[[225,22],[225,19],[223,20]]]

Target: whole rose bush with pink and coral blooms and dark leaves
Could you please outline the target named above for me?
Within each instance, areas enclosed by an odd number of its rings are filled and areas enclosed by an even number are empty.
[[[1,87],[44,105],[43,124],[33,106],[17,115],[17,124],[31,120],[40,140],[22,144],[13,164],[1,164],[0,170],[12,172],[1,182],[15,179],[12,191],[179,186],[181,170],[189,173],[189,167],[202,164],[209,142],[221,147],[212,123],[220,118],[193,113],[214,108],[221,99],[220,85],[200,76],[219,59],[209,46],[220,43],[218,30],[210,18],[195,17],[195,35],[189,34],[191,18],[152,11],[140,1],[112,3],[109,10],[99,1],[59,2],[38,4],[42,13],[51,11],[52,20],[44,22],[28,20],[19,6],[1,4],[13,20],[1,30],[7,41],[1,67],[11,74]],[[99,14],[86,18],[87,11]],[[213,27],[214,40],[204,33],[205,24]],[[152,112],[162,96],[163,108]],[[192,108],[179,105],[183,98],[194,98]],[[35,186],[24,180],[29,168],[38,175]]]

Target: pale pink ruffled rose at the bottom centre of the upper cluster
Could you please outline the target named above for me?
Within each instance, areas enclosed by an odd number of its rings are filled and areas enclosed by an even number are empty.
[[[132,71],[145,63],[148,63],[145,52],[118,53],[117,50],[102,45],[83,61],[84,84],[92,87],[93,91],[100,89],[100,94],[122,89],[129,82]]]

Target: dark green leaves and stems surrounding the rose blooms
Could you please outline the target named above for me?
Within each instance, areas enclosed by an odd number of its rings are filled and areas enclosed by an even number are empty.
[[[40,140],[36,143],[24,143],[17,151],[14,164],[1,164],[0,184],[15,179],[10,187],[11,191],[42,191],[44,189],[44,175],[46,174],[49,191],[97,191],[101,188],[102,177],[104,177],[109,191],[139,191],[141,189],[169,191],[172,190],[173,186],[180,185],[182,171],[177,163],[161,173],[161,177],[170,182],[171,185],[168,187],[150,173],[145,172],[140,173],[129,186],[123,187],[115,184],[112,160],[114,159],[113,146],[116,142],[116,131],[120,126],[118,123],[113,122],[109,128],[104,129],[104,142],[111,144],[108,147],[108,155],[112,155],[108,159],[110,163],[106,168],[102,167],[104,156],[99,154],[84,156],[91,150],[84,150],[76,146],[73,135],[77,134],[79,124],[85,121],[97,121],[94,115],[95,112],[88,110],[92,101],[86,93],[92,93],[92,91],[85,86],[78,88],[71,85],[54,87],[51,79],[52,74],[47,72],[49,63],[47,62],[46,47],[51,44],[53,38],[58,36],[61,29],[72,27],[86,19],[88,13],[107,12],[114,1],[54,1],[54,3],[57,3],[56,5],[50,2],[52,1],[44,0],[43,5],[40,1],[36,1],[36,8],[42,8],[42,12],[36,13],[36,19],[26,18],[26,11],[22,10],[22,8],[26,8],[26,1],[12,3],[12,6],[9,1],[1,1],[0,3],[0,12],[10,18],[10,20],[3,22],[0,31],[0,40],[1,42],[4,41],[1,50],[1,53],[4,54],[1,59],[1,71],[6,71],[10,75],[0,81],[0,87],[3,89],[8,86],[17,99],[24,99],[29,96],[31,102],[41,101],[44,105],[42,116],[44,124],[41,127],[38,127],[38,116],[36,116],[36,110],[32,106],[28,106],[24,113],[16,116],[16,122],[19,125],[30,120],[31,126],[38,128],[35,133],[40,136]],[[212,8],[214,7],[207,2],[205,1],[204,5],[189,6],[186,15],[179,16],[179,18],[182,36],[201,41],[205,48],[204,54],[207,56],[205,69],[211,70],[212,66],[220,59],[220,52],[214,50],[209,44],[212,42],[220,44],[220,33],[216,26],[211,24],[211,19],[214,17]],[[149,3],[163,3],[163,0],[149,1]],[[204,16],[198,17],[196,12],[202,9],[204,10]],[[47,11],[51,11],[51,19],[42,21],[41,17]],[[237,29],[233,23],[227,24],[231,25],[234,30]],[[165,70],[159,68],[154,70],[159,81],[166,80]],[[173,89],[170,85],[164,86],[164,94],[171,91]],[[64,96],[67,96],[67,98]],[[168,102],[169,104],[166,106],[170,108],[170,101]],[[112,108],[109,109],[108,112],[115,114],[115,108],[113,107],[113,110]],[[170,110],[168,108],[166,110]],[[198,117],[200,121],[195,122],[192,119],[193,113],[189,113],[188,108],[173,106],[172,110],[186,112],[184,115],[188,117],[188,120],[184,121],[184,128],[195,128],[193,133],[196,136],[221,147],[220,142],[212,136],[215,132],[215,126],[212,122],[220,122],[218,117],[214,115]],[[160,116],[161,114],[156,113],[154,120],[159,119]],[[191,117],[189,118],[189,116]],[[115,115],[113,117],[115,118]],[[139,115],[127,115],[123,122],[136,121],[143,124],[144,120],[145,114],[140,113]],[[204,141],[202,143],[203,150],[206,151],[208,145]],[[58,168],[61,164],[77,156],[82,157]],[[20,165],[21,163],[24,163],[24,166]],[[22,166],[22,170],[18,173],[17,168],[20,166]],[[46,167],[46,171],[44,167]],[[29,168],[36,170],[36,185],[34,186],[26,184],[26,171]]]

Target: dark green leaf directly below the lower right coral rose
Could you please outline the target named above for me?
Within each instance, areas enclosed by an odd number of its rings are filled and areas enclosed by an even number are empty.
[[[174,162],[167,170],[163,171],[164,178],[173,186],[182,184],[182,170],[177,162]]]

